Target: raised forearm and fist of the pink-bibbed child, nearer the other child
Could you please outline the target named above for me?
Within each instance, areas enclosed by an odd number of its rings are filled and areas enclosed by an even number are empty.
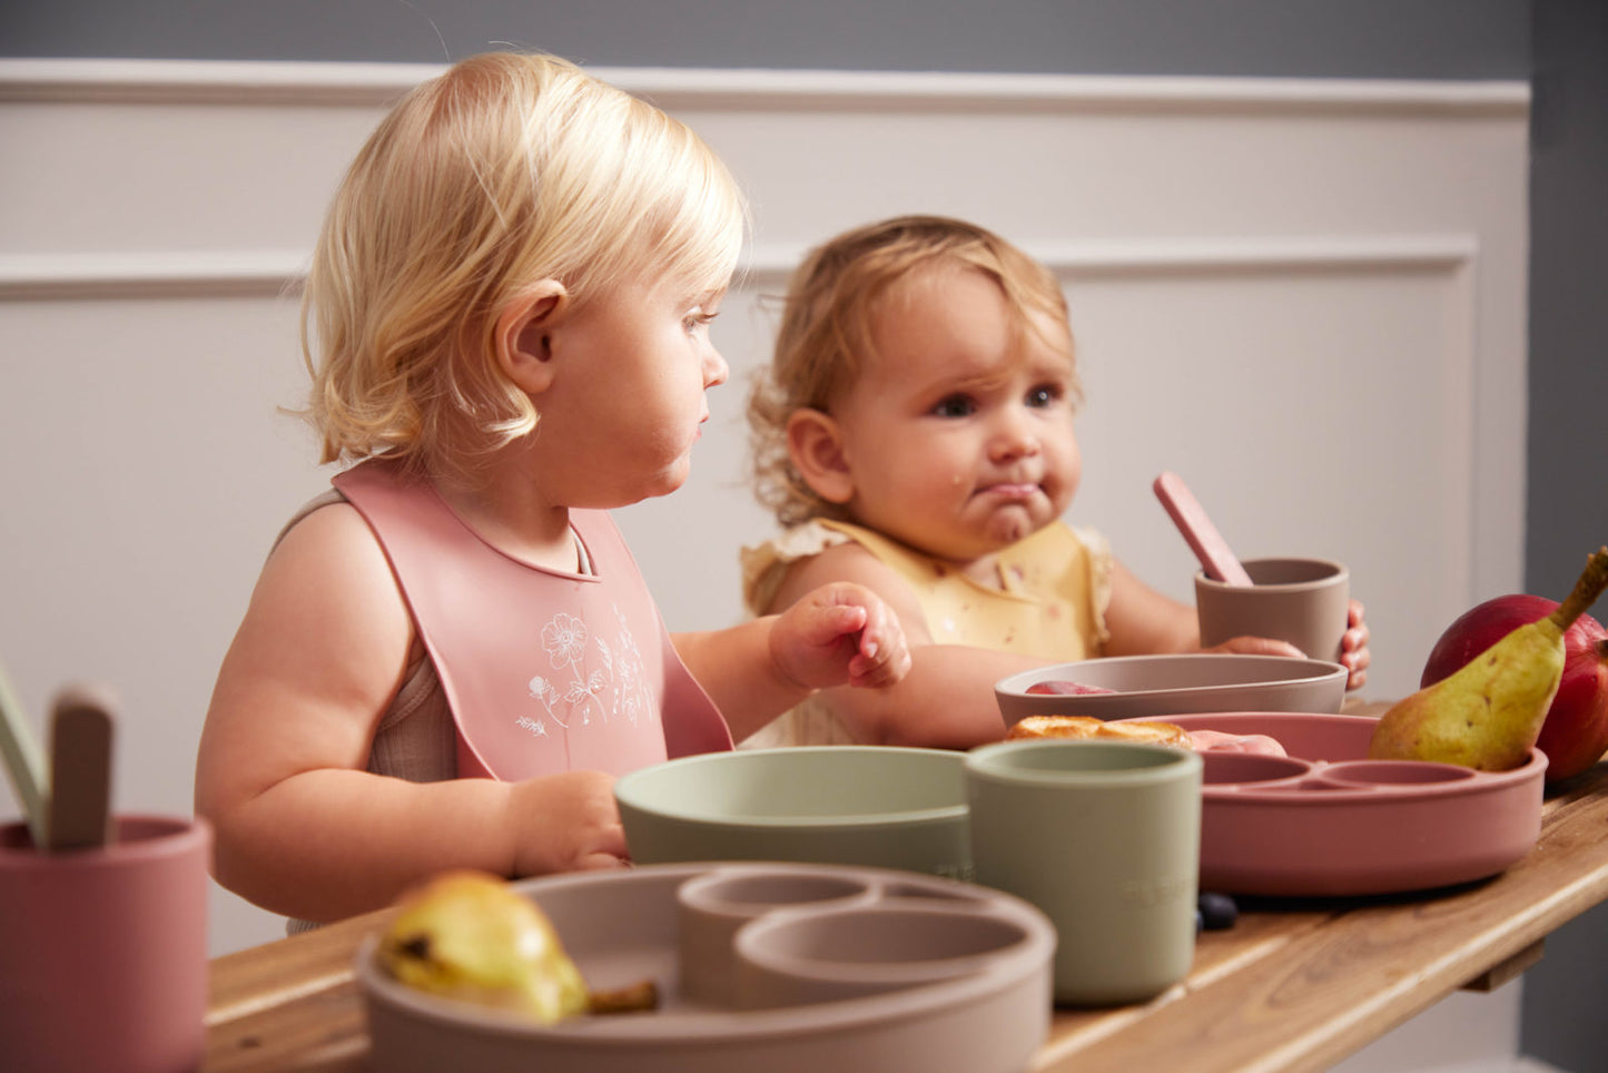
[[[827,584],[781,615],[677,634],[675,650],[725,714],[735,740],[817,689],[881,692],[910,669],[899,618],[875,592]]]

